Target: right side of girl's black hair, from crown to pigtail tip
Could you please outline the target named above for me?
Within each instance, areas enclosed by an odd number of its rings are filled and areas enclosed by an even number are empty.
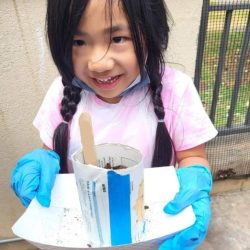
[[[165,111],[161,99],[164,52],[168,47],[169,25],[167,6],[163,0],[123,0],[134,43],[140,73],[144,67],[150,78],[150,93],[158,118],[152,166],[167,166],[173,156],[172,140],[164,123]]]

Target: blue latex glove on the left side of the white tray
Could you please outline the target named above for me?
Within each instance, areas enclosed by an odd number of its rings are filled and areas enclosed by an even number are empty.
[[[11,187],[25,207],[36,196],[50,206],[51,190],[60,170],[60,158],[51,150],[38,148],[24,155],[11,174]]]

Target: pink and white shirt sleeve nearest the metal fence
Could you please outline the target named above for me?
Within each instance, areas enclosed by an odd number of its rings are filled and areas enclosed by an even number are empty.
[[[176,151],[203,144],[217,135],[190,77],[167,70],[163,77],[162,99],[165,123]]]

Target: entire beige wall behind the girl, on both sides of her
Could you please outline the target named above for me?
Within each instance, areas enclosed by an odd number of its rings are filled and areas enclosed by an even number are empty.
[[[45,0],[0,1],[0,239],[23,212],[9,187],[16,160],[41,145],[32,120],[57,75],[44,39]],[[175,25],[168,61],[194,73],[201,2],[167,0]]]

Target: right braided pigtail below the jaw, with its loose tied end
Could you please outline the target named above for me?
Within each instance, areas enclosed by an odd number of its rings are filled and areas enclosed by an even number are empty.
[[[158,124],[156,129],[155,149],[152,160],[152,166],[169,166],[173,157],[173,143],[164,122],[165,111],[161,98],[162,77],[160,73],[154,76],[155,79],[151,78],[151,90],[154,111],[158,118]]]

